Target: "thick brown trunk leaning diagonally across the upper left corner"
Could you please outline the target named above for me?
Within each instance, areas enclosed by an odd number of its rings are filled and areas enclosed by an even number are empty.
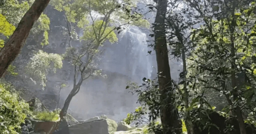
[[[29,35],[31,28],[44,11],[50,0],[35,0],[23,18],[20,20],[13,35],[0,51],[0,78],[12,61],[18,56]]]

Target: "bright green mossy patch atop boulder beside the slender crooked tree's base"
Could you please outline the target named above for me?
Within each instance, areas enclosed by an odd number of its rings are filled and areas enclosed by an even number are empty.
[[[58,121],[59,120],[59,114],[55,112],[37,112],[34,116],[34,119],[41,120],[41,121]]]

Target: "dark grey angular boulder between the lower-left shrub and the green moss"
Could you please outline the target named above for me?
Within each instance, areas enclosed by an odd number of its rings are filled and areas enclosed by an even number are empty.
[[[30,106],[30,109],[34,112],[43,112],[49,111],[38,98],[33,98],[27,102]]]

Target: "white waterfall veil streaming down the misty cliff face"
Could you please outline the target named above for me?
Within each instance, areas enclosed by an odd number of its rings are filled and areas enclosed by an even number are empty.
[[[100,68],[111,72],[118,72],[129,77],[151,77],[153,61],[147,56],[147,33],[138,27],[129,27],[119,35],[119,43],[106,48]],[[112,59],[112,60],[111,60]],[[113,63],[114,62],[114,63]]]

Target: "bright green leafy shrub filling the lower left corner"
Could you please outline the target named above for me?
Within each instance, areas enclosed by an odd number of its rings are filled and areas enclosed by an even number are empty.
[[[29,105],[20,100],[18,94],[9,91],[10,85],[0,82],[0,133],[17,134],[21,132],[29,111]]]

